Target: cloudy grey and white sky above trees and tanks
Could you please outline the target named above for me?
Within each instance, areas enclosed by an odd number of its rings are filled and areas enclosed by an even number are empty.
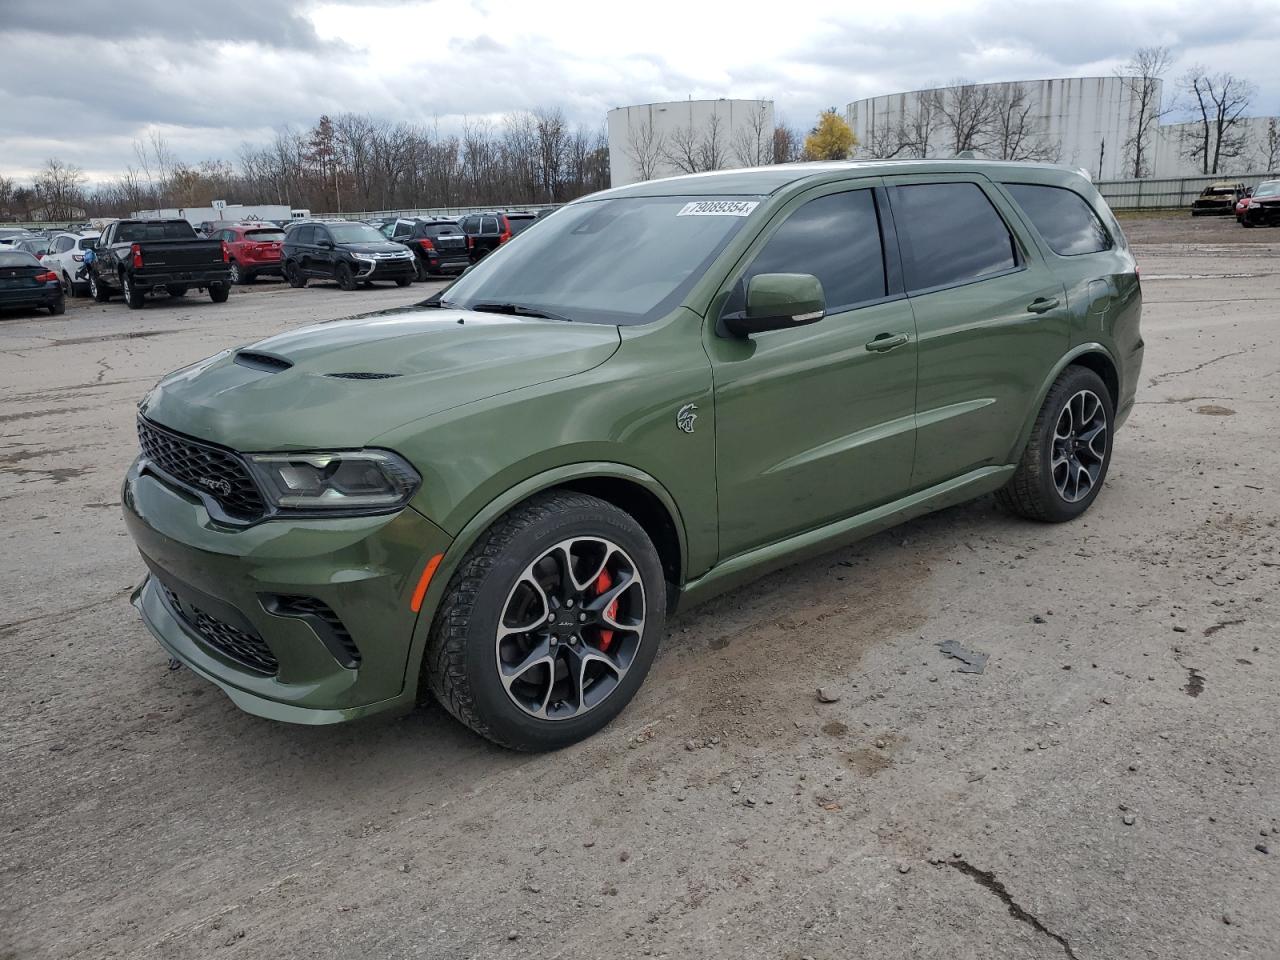
[[[0,174],[51,156],[110,179],[159,131],[195,163],[284,124],[369,113],[456,129],[559,105],[767,97],[822,108],[974,81],[1106,76],[1138,46],[1257,84],[1280,113],[1280,0],[0,0]],[[1171,83],[1166,83],[1166,97]]]

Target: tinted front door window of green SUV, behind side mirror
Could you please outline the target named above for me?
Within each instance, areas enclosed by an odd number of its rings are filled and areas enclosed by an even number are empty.
[[[746,284],[758,274],[813,274],[828,314],[883,297],[884,251],[872,191],[818,197],[792,212],[748,268],[730,308],[742,308]]]

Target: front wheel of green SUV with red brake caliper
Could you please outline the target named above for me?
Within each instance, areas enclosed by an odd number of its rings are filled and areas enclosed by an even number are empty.
[[[571,593],[577,589],[562,575],[553,576],[541,590],[541,598],[550,599],[539,599],[531,588],[532,572],[545,571],[548,558],[562,556],[556,552],[566,544],[572,550],[586,550],[580,572],[588,571],[589,580],[586,593],[577,593],[577,618],[599,618],[603,609],[611,623],[639,622],[639,630],[605,631],[579,625],[568,612],[572,596],[564,602],[554,588],[559,582],[567,584]],[[614,550],[604,553],[605,544]],[[598,564],[602,554],[604,562]],[[596,566],[599,571],[612,567],[612,577],[605,580],[602,573],[596,580],[589,572]],[[563,567],[552,559],[550,570]],[[616,591],[614,602],[588,614],[588,604],[603,603],[611,590]],[[532,605],[512,617],[512,604],[526,600]],[[625,612],[618,603],[626,604]],[[480,736],[513,750],[557,750],[599,731],[635,696],[658,652],[666,609],[667,585],[658,552],[628,513],[581,493],[540,494],[494,521],[463,557],[431,625],[422,684],[444,709]],[[548,626],[540,611],[556,611],[563,617]],[[532,622],[530,631],[508,630],[507,636],[499,636],[500,625],[515,621],[521,626],[526,616]],[[614,643],[617,646],[611,646]],[[524,672],[508,673],[506,681],[499,676],[499,663],[529,663],[529,652],[539,648],[547,652],[553,671],[562,664],[584,664],[591,676],[586,692],[580,687],[573,700],[573,673],[566,669],[561,677],[548,671],[544,659]],[[613,660],[602,660],[598,654],[611,649]],[[577,659],[584,652],[591,659]],[[621,673],[617,664],[623,666]],[[566,690],[568,696],[563,695]],[[591,696],[599,699],[591,704]]]

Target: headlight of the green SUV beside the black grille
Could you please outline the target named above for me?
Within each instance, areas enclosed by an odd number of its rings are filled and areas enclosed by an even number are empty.
[[[422,479],[388,451],[256,453],[262,492],[282,509],[375,511],[402,507]]]

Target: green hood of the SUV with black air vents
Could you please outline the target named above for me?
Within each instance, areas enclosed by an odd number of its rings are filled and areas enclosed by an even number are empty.
[[[164,378],[141,411],[238,451],[356,448],[412,420],[590,370],[620,342],[618,328],[600,324],[387,311],[219,353]]]

